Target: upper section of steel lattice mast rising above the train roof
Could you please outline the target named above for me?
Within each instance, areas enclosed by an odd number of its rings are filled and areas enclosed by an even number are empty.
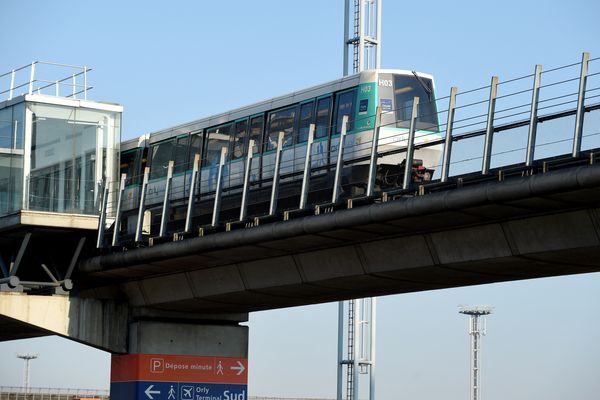
[[[350,3],[354,13],[350,20]],[[352,28],[352,36],[350,36]],[[344,76],[380,68],[381,64],[381,0],[345,0],[344,7]]]

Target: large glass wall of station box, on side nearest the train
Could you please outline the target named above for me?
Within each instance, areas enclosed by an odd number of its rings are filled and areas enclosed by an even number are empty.
[[[120,114],[30,103],[30,209],[98,212],[102,182],[119,172]]]

